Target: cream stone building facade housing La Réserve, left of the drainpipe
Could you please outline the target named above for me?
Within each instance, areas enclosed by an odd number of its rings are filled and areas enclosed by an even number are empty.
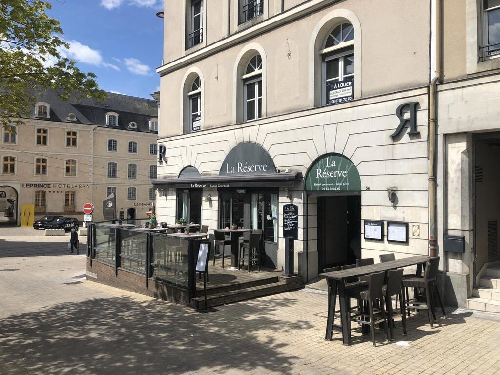
[[[292,203],[306,281],[427,255],[430,5],[166,0],[158,221],[263,229],[281,268]]]

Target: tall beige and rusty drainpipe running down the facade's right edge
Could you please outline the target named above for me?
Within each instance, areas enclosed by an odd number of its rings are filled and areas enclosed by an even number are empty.
[[[429,255],[436,256],[436,177],[435,163],[435,135],[436,135],[436,85],[441,79],[441,0],[435,0],[435,71],[429,87]]]

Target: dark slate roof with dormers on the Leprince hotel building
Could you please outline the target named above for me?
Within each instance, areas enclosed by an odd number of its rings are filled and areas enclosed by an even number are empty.
[[[50,117],[35,117],[35,103],[32,103],[31,113],[33,113],[33,116],[31,118],[55,122],[86,123],[111,129],[157,133],[157,131],[149,131],[149,119],[158,118],[156,100],[107,92],[107,99],[103,102],[88,97],[78,99],[76,95],[64,101],[57,96],[54,90],[47,90],[43,96],[35,96],[37,101],[43,101],[50,105]],[[107,112],[116,112],[118,114],[118,126],[106,126]],[[76,120],[71,121],[66,119],[69,113],[74,113]],[[137,123],[136,129],[128,127],[128,124],[132,121]]]

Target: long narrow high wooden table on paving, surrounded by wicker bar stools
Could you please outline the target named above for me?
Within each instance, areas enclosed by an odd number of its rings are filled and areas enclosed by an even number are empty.
[[[326,318],[326,333],[325,339],[331,340],[332,329],[342,332],[342,340],[344,345],[350,345],[350,297],[345,293],[345,279],[349,277],[359,277],[370,273],[388,271],[391,269],[407,267],[409,265],[419,265],[425,263],[429,256],[409,256],[407,258],[390,260],[383,263],[363,265],[360,267],[341,269],[339,271],[321,273],[326,278],[328,283],[328,313]],[[417,273],[418,269],[417,267]],[[335,302],[337,298],[340,302],[340,322],[341,324],[333,324],[333,316],[335,313]]]

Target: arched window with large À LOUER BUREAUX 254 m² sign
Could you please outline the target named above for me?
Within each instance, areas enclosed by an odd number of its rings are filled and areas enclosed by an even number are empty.
[[[323,104],[352,100],[354,87],[354,30],[350,23],[336,26],[321,50]]]

